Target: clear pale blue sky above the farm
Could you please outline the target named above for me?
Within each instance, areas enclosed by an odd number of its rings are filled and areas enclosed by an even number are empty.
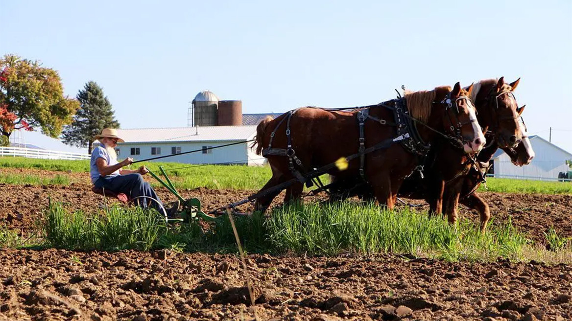
[[[186,126],[205,89],[265,113],[522,77],[530,133],[572,151],[569,0],[0,0],[0,53],[58,70],[72,96],[96,81],[123,128]]]

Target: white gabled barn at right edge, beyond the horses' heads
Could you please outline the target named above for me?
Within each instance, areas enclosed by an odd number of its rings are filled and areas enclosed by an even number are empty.
[[[572,154],[538,135],[529,139],[535,153],[530,164],[515,166],[509,155],[499,149],[492,157],[494,171],[490,174],[499,178],[557,180],[559,172],[570,171],[566,160],[572,159]]]

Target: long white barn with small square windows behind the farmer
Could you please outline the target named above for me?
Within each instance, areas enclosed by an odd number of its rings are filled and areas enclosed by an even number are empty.
[[[256,137],[256,126],[203,126],[180,128],[118,129],[125,143],[118,143],[117,158],[132,157],[135,160],[174,155],[158,159],[158,162],[188,164],[248,164],[261,165],[264,159],[250,148]],[[243,142],[243,143],[240,143]],[[208,149],[239,143],[220,149]],[[186,151],[197,153],[176,155]]]

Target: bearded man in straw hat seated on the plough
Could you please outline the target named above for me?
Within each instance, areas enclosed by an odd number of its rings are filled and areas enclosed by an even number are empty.
[[[104,191],[108,190],[116,194],[124,193],[132,199],[137,196],[146,196],[139,199],[140,202],[138,203],[140,206],[147,207],[147,202],[149,202],[151,207],[162,212],[163,204],[161,200],[159,200],[150,184],[143,179],[142,175],[149,172],[147,168],[141,166],[137,170],[122,169],[122,167],[133,163],[133,158],[130,157],[122,160],[120,163],[117,162],[115,147],[118,142],[125,142],[117,136],[117,130],[106,128],[101,131],[100,135],[96,135],[94,138],[101,145],[92,151],[89,173],[93,185],[97,188],[104,188]],[[149,197],[154,200],[149,199]],[[172,216],[177,210],[178,203],[174,204],[169,210],[165,208],[168,216]]]

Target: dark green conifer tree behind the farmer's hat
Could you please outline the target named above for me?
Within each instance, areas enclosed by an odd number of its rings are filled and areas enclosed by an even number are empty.
[[[80,109],[71,125],[63,129],[63,142],[77,147],[88,147],[92,154],[93,137],[104,128],[118,128],[112,105],[96,82],[90,81],[77,94]]]

